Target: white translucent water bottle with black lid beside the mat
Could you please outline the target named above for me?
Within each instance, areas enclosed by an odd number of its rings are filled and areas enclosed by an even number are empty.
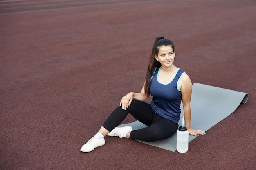
[[[177,130],[177,151],[185,153],[189,150],[189,131],[186,127],[180,126]]]

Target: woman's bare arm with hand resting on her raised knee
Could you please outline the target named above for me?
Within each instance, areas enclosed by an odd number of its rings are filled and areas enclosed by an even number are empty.
[[[128,108],[128,106],[130,106],[130,104],[132,103],[133,99],[144,102],[148,98],[148,96],[145,93],[144,87],[145,87],[145,83],[140,93],[130,92],[126,94],[120,101],[120,106],[122,106],[122,109],[126,110],[126,108]]]

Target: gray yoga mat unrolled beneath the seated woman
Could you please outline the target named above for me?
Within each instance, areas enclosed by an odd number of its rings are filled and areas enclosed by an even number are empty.
[[[194,83],[191,96],[191,127],[193,129],[207,131],[233,113],[241,102],[246,103],[247,100],[247,93]],[[183,117],[182,104],[180,109],[181,116],[179,126],[182,124]],[[133,130],[146,127],[146,125],[139,121],[121,124],[119,127],[123,126],[132,126]],[[195,136],[189,135],[189,142],[195,138]],[[176,133],[168,139],[156,142],[138,141],[173,152],[176,151]]]

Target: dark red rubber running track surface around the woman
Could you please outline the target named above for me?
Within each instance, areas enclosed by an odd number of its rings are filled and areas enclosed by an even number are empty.
[[[255,11],[255,0],[1,1],[0,169],[255,169]],[[157,36],[193,83],[248,102],[185,154],[119,137],[80,152],[141,90]]]

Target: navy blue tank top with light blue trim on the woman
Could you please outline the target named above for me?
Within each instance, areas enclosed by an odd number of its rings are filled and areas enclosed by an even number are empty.
[[[153,98],[150,105],[153,111],[159,116],[178,123],[180,119],[180,103],[182,100],[181,90],[178,84],[182,74],[185,72],[178,69],[173,79],[169,83],[164,84],[158,80],[159,70],[151,77],[150,94]]]

